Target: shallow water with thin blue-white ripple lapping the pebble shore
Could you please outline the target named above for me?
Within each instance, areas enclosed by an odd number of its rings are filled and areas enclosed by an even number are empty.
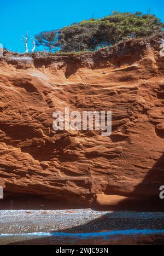
[[[164,230],[1,234],[1,245],[164,245]]]

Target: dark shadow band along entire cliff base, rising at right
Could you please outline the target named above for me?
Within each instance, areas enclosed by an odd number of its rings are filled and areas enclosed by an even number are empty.
[[[142,183],[137,185],[127,200],[113,206],[97,206],[95,203],[92,208],[100,211],[164,212],[164,199],[161,200],[159,197],[161,185],[164,185],[164,154],[145,176]],[[83,201],[73,202],[62,199],[50,201],[44,199],[43,196],[29,195],[9,195],[0,201],[0,210],[66,210],[86,207],[91,208],[91,205]]]

